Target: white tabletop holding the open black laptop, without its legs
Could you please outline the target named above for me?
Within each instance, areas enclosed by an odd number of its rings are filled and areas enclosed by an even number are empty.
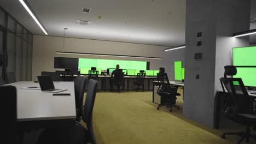
[[[68,89],[61,93],[71,95],[53,96],[41,90],[21,89],[38,86],[32,81],[10,83],[17,89],[18,121],[37,121],[75,118],[74,82],[54,82],[55,88]]]

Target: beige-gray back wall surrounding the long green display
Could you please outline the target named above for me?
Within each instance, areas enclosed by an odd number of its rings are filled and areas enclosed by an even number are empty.
[[[32,79],[36,80],[36,76],[40,75],[41,71],[54,71],[54,57],[80,57],[122,59],[130,61],[149,61],[150,69],[159,69],[159,67],[165,67],[169,77],[174,77],[173,61],[184,61],[184,50],[165,52],[165,48],[167,47],[75,38],[65,38],[65,47],[63,47],[62,37],[34,35]],[[162,60],[107,56],[65,55],[56,54],[56,51],[162,57]]]

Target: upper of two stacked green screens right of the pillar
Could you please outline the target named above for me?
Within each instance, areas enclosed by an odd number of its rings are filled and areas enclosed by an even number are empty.
[[[233,48],[233,65],[256,66],[256,46]]]

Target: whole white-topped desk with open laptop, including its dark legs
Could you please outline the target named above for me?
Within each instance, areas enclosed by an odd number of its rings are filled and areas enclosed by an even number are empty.
[[[39,128],[68,127],[71,130],[75,124],[74,82],[54,82],[55,88],[68,89],[62,93],[70,96],[53,96],[40,90],[21,89],[37,86],[39,83],[19,81],[10,83],[17,89],[17,121],[18,129],[23,131]],[[69,143],[72,143],[72,134]]]

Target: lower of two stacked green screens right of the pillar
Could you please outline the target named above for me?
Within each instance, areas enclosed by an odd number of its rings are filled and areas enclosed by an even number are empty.
[[[256,68],[236,68],[236,70],[237,74],[233,76],[234,78],[241,78],[245,86],[256,87]]]

